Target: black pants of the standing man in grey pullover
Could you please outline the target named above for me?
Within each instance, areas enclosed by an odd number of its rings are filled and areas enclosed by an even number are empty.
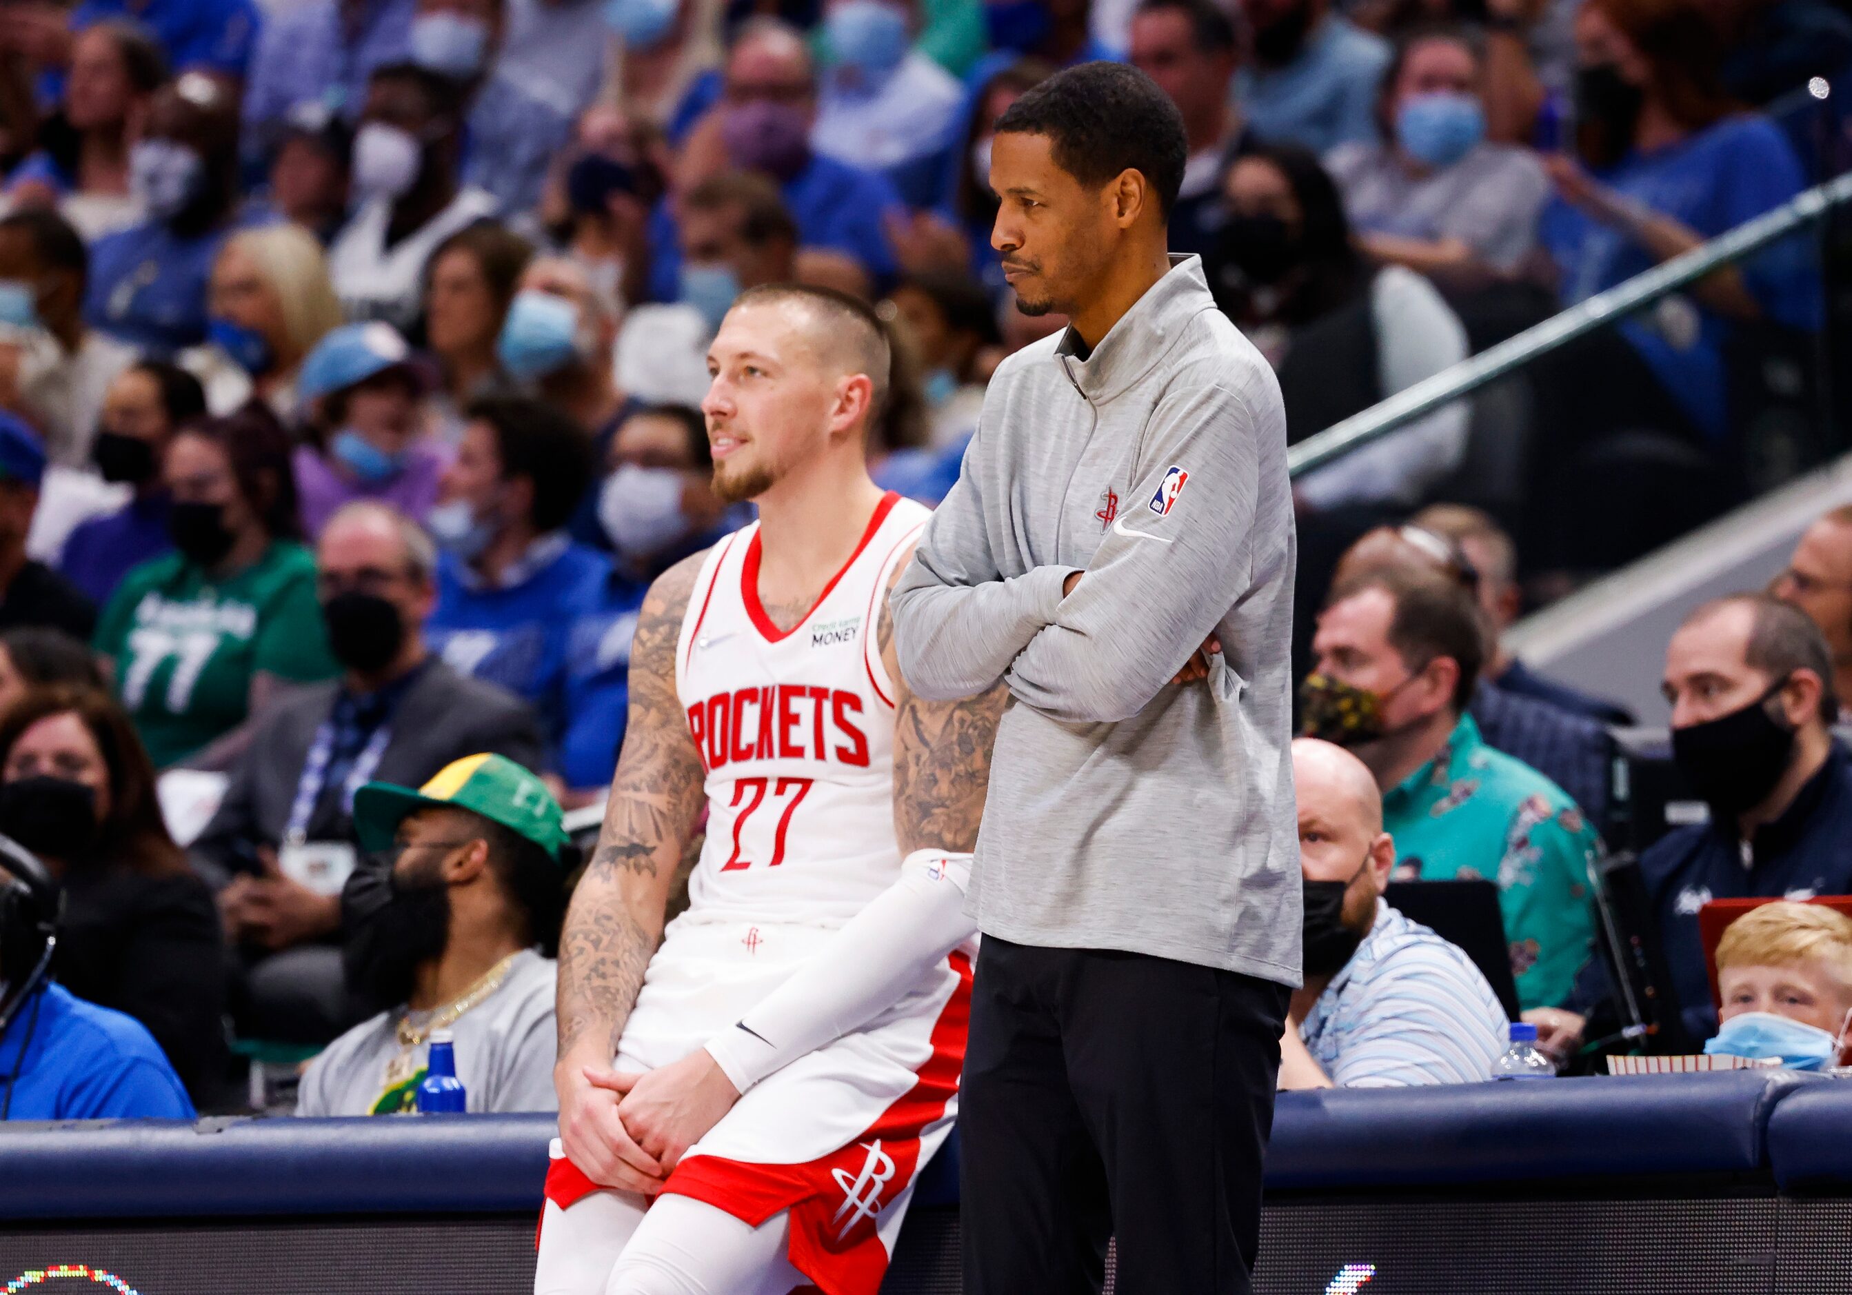
[[[1287,987],[983,937],[959,1084],[965,1295],[1246,1295]]]

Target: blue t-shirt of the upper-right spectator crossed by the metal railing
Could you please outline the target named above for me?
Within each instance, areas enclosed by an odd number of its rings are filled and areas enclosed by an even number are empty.
[[[1800,159],[1767,117],[1726,117],[1652,154],[1630,154],[1596,180],[1713,239],[1806,187]],[[1552,198],[1537,228],[1561,276],[1563,306],[1595,296],[1656,265],[1624,232]],[[1800,330],[1821,326],[1819,269],[1806,235],[1787,237],[1741,263],[1763,313]],[[1726,434],[1722,345],[1728,324],[1687,295],[1635,313],[1620,335],[1639,350],[1691,421],[1711,439]]]

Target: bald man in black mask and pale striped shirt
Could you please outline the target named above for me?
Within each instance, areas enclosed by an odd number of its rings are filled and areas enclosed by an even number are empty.
[[[1491,1078],[1509,1023],[1480,969],[1383,902],[1395,839],[1376,780],[1343,747],[1293,743],[1306,984],[1280,1039],[1280,1088]]]

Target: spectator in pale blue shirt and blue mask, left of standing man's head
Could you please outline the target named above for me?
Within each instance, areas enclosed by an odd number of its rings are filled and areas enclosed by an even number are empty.
[[[828,0],[822,35],[833,63],[817,94],[811,146],[889,178],[946,143],[965,89],[913,48],[917,0]]]

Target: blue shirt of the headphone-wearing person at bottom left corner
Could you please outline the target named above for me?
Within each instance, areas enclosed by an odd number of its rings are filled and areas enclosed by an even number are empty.
[[[7,1119],[193,1119],[193,1102],[161,1045],[133,1017],[48,984],[0,1036]]]

